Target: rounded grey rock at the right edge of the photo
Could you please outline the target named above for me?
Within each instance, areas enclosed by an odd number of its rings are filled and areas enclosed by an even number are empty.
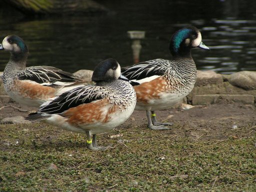
[[[256,89],[256,71],[239,71],[229,75],[228,82],[245,90]]]

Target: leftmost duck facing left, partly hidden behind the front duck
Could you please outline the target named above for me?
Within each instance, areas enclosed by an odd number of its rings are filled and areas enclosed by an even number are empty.
[[[10,52],[9,61],[0,76],[4,89],[21,104],[39,107],[48,99],[84,84],[78,76],[53,66],[26,67],[28,48],[17,35],[6,36],[0,50]]]

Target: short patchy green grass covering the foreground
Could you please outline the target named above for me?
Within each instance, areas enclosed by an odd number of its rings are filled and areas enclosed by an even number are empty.
[[[137,126],[97,139],[114,148],[90,151],[83,135],[42,123],[0,125],[0,191],[256,191],[252,133],[194,140]]]

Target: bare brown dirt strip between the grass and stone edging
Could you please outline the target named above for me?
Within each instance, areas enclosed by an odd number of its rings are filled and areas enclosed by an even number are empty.
[[[14,101],[1,103],[11,105],[26,112],[19,111],[13,107],[0,109],[0,119],[10,116],[27,116],[36,110],[35,107],[20,105]],[[248,136],[256,132],[256,111],[255,106],[244,105],[242,103],[221,103],[212,105],[196,105],[193,108],[184,110],[173,108],[168,110],[156,111],[158,121],[173,122],[174,126],[169,126],[170,134],[174,136],[186,136],[193,139],[211,140],[225,139],[230,134],[238,133],[239,136]],[[117,128],[128,128],[144,125],[146,128],[145,111],[134,111],[130,118]],[[177,126],[178,125],[178,126]],[[241,127],[251,127],[251,129],[239,132]],[[143,127],[143,126],[142,126]],[[165,132],[165,131],[164,131]],[[234,137],[238,135],[232,135]]]

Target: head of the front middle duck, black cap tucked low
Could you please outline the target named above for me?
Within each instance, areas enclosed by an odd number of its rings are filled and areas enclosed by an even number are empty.
[[[115,79],[129,80],[121,74],[121,67],[113,58],[108,58],[98,63],[94,68],[91,77],[91,80],[95,82],[112,81]]]

